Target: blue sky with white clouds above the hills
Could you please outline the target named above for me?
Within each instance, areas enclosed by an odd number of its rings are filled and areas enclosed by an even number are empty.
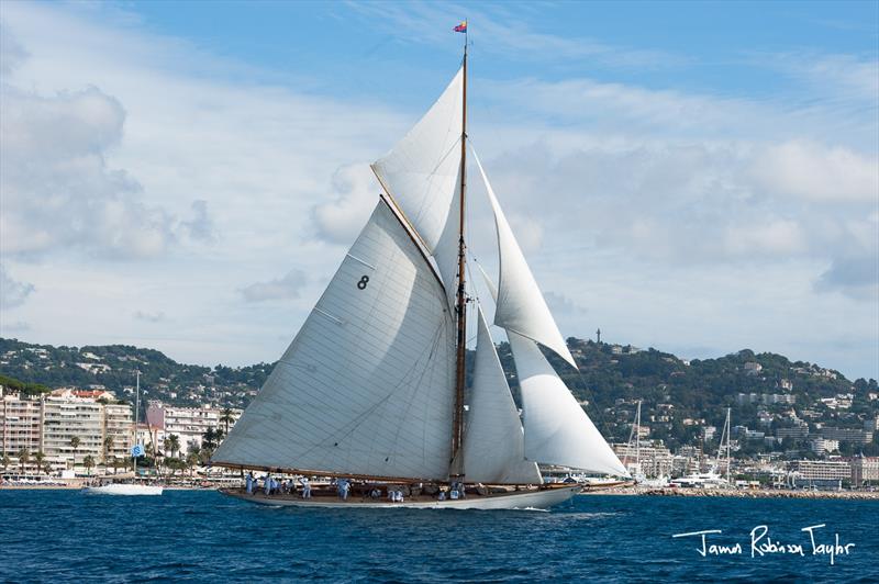
[[[867,1],[4,1],[0,336],[277,359],[465,18],[469,135],[564,335],[879,378]]]

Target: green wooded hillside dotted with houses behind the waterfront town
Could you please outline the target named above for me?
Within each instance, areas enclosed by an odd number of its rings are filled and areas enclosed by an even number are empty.
[[[859,428],[879,415],[875,380],[849,381],[838,371],[775,353],[742,350],[717,359],[685,361],[656,349],[569,338],[579,372],[553,355],[561,374],[596,425],[611,440],[625,440],[635,404],[650,437],[669,447],[698,443],[702,427],[720,427],[732,407],[733,425],[765,429],[792,424],[794,412],[811,424]],[[507,344],[499,355],[518,400],[515,368]],[[471,364],[471,363],[468,363]],[[142,371],[144,397],[180,405],[245,407],[271,372],[272,364],[213,368],[178,363],[164,353],[125,345],[53,347],[0,339],[0,374],[48,388],[103,385],[121,398],[132,394],[134,370]],[[35,391],[36,386],[33,386]],[[755,403],[739,394],[792,395],[789,403]],[[850,394],[849,397],[845,397]],[[834,405],[837,396],[841,406]],[[821,400],[827,400],[827,403]],[[794,417],[795,419],[795,417]],[[759,450],[757,445],[752,445]]]

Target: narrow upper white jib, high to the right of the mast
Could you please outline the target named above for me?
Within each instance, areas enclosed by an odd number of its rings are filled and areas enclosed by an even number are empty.
[[[494,190],[488,181],[486,171],[474,151],[474,158],[486,183],[488,198],[494,212],[494,226],[498,231],[498,252],[500,255],[500,279],[498,282],[494,324],[512,333],[536,340],[555,351],[571,367],[577,368],[565,339],[561,337],[549,307],[534,280],[525,261],[525,256],[513,236]]]

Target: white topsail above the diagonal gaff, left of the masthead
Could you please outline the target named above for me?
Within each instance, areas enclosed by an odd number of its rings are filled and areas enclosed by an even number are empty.
[[[464,69],[418,124],[387,155],[372,164],[388,194],[433,254],[459,181],[464,115]],[[446,282],[450,287],[449,282]]]

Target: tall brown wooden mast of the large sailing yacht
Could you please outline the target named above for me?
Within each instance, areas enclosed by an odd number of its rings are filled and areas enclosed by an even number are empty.
[[[464,438],[464,384],[465,359],[467,357],[467,297],[465,295],[465,254],[464,210],[467,189],[467,34],[464,35],[464,99],[460,123],[460,209],[458,210],[458,292],[455,301],[457,315],[457,352],[455,359],[455,415],[452,430],[452,459],[457,458]],[[464,474],[460,463],[453,469],[453,474]]]

